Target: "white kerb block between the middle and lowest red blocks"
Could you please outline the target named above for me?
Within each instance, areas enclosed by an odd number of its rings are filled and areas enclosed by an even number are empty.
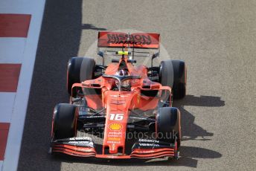
[[[0,123],[10,123],[16,93],[0,92]]]

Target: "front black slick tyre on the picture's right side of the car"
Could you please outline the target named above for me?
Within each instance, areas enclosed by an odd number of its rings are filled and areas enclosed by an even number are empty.
[[[179,109],[164,107],[156,115],[156,133],[160,141],[177,142],[180,146],[181,125]]]

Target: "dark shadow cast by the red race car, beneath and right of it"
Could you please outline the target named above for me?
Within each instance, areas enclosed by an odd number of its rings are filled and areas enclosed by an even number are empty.
[[[214,133],[207,132],[201,126],[194,123],[195,117],[193,114],[183,108],[183,106],[208,106],[220,107],[225,106],[225,101],[220,100],[220,97],[200,96],[194,97],[187,95],[185,99],[178,100],[173,103],[180,109],[182,113],[182,135],[188,138],[182,138],[182,141],[209,141]],[[100,165],[113,165],[113,166],[185,166],[197,167],[198,158],[221,158],[220,152],[215,152],[211,149],[205,149],[196,146],[182,146],[180,149],[180,158],[176,159],[129,159],[129,160],[116,160],[116,159],[101,159],[101,158],[76,158],[67,155],[57,155],[55,161],[64,161],[67,163],[86,163],[86,164],[100,164]]]

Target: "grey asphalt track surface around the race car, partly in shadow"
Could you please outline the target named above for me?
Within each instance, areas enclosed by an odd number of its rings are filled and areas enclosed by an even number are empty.
[[[255,1],[48,0],[33,71],[19,170],[253,170],[256,168]],[[67,103],[66,64],[98,30],[161,33],[188,65],[179,161],[51,158],[51,113]],[[164,59],[165,57],[161,57]]]

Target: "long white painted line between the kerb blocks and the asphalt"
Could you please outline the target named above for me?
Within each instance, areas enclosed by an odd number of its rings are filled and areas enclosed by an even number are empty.
[[[30,0],[27,3],[29,4],[29,8],[27,8],[27,11],[24,13],[31,13],[31,25],[28,30],[28,38],[25,46],[24,57],[22,59],[22,68],[19,75],[19,84],[13,106],[7,147],[2,166],[2,170],[4,171],[14,171],[17,170],[18,167],[22,133],[33,75],[33,65],[36,59],[36,49],[39,41],[39,33],[41,30],[42,16],[45,7],[45,0]],[[15,2],[13,2],[13,4],[15,4]]]

